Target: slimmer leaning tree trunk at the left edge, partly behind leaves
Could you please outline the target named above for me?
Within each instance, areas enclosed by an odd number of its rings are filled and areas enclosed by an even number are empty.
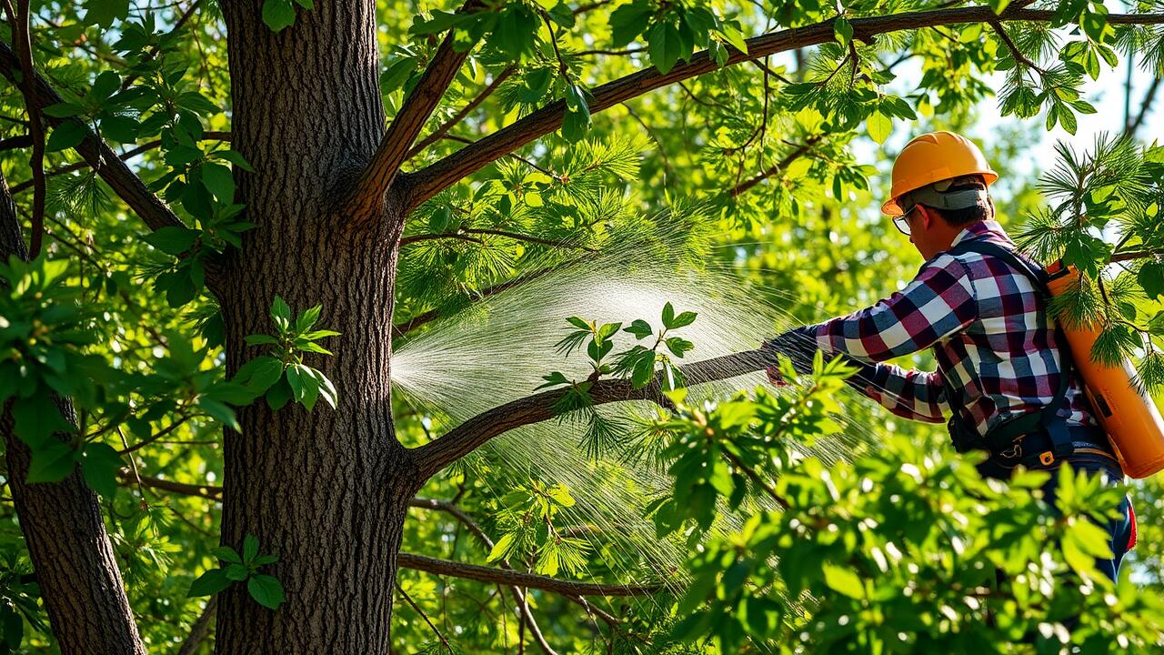
[[[8,184],[0,174],[0,259],[28,259]],[[72,403],[54,396],[76,423]],[[52,634],[65,655],[144,655],[121,571],[105,531],[97,494],[74,467],[59,483],[28,484],[31,453],[13,432],[8,407],[0,411],[8,486],[24,533]]]

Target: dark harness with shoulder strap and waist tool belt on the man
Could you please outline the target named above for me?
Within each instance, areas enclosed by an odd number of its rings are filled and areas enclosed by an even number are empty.
[[[1029,277],[1035,288],[1043,291],[1044,297],[1050,297],[1050,291],[1046,288],[1046,274],[1041,269],[1035,269],[1009,249],[988,241],[971,240],[958,244],[949,251],[949,254],[957,255],[966,252],[1003,260]],[[978,434],[974,423],[968,421],[968,417],[960,416],[961,411],[954,402],[957,397],[954,389],[943,375],[938,375],[945,387],[946,399],[951,407],[954,407],[953,416],[950,417],[947,424],[953,446],[958,452],[988,451],[991,458],[979,467],[979,472],[984,476],[1008,477],[1009,471],[1017,465],[1028,469],[1046,469],[1056,462],[1076,455],[1110,459],[1109,467],[1114,466],[1113,470],[1119,471],[1112,445],[1102,429],[1069,425],[1066,411],[1060,415],[1071,385],[1073,366],[1067,341],[1062,331],[1058,329],[1057,331],[1059,332],[1057,341],[1060,344],[1062,371],[1059,372],[1059,388],[1056,389],[1055,397],[1039,411],[1021,414],[992,425],[985,436]],[[1077,458],[1072,457],[1072,459]],[[1106,462],[1103,463],[1106,464]]]

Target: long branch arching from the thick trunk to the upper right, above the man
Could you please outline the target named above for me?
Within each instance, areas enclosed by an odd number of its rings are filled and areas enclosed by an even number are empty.
[[[1001,15],[996,15],[989,7],[957,7],[853,19],[850,24],[852,24],[854,38],[870,41],[878,34],[904,29],[971,22],[992,23],[1000,20],[1050,22],[1052,15],[1053,12],[1025,8],[1008,8]],[[1164,14],[1112,14],[1107,16],[1107,22],[1161,23],[1164,22]],[[726,65],[826,43],[833,38],[832,26],[833,20],[828,20],[750,38],[747,52],[732,49]],[[716,62],[704,50],[695,54],[689,62],[680,63],[666,73],[659,72],[654,68],[640,70],[594,89],[590,113],[601,112],[648,91],[711,72],[717,68]],[[427,168],[405,175],[402,182],[405,183],[406,206],[412,209],[419,205],[498,157],[558,129],[562,125],[565,112],[565,100],[556,100]]]

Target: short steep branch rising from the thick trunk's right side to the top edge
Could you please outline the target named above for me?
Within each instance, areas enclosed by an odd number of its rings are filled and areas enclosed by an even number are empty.
[[[470,12],[477,6],[477,0],[469,0],[461,7],[461,12]],[[396,179],[400,164],[407,159],[412,142],[428,122],[428,117],[445,97],[445,91],[469,56],[468,49],[463,52],[456,50],[455,37],[455,29],[448,30],[445,35],[445,40],[428,62],[428,68],[384,132],[376,154],[361,174],[355,189],[345,199],[343,206],[356,224],[372,223],[383,211],[384,195]]]

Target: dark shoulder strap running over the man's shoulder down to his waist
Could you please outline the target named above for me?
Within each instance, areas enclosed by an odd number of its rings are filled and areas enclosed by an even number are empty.
[[[1023,274],[1035,284],[1035,288],[1043,294],[1043,297],[1048,301],[1051,298],[1051,290],[1048,287],[1048,275],[1042,268],[1032,266],[1027,260],[1020,258],[1014,251],[1005,248],[998,244],[992,244],[982,239],[970,239],[957,244],[954,247],[946,251],[949,255],[959,255],[963,253],[978,253],[980,255],[989,255],[1000,259],[1012,268]],[[1067,397],[1067,389],[1071,386],[1071,348],[1067,344],[1067,339],[1063,334],[1062,330],[1057,326],[1056,330],[1059,332],[1060,354],[1059,364],[1062,371],[1059,372],[1059,388],[1055,392],[1055,397],[1051,399],[1050,404],[1043,408],[1037,415],[1027,415],[1018,417],[1016,420],[1009,421],[1002,425],[991,430],[987,435],[987,441],[992,442],[994,446],[1009,445],[1015,438],[1031,432],[1034,429],[1044,428],[1051,436],[1051,441],[1055,443],[1056,450],[1066,452],[1056,452],[1056,456],[1070,455],[1071,439],[1066,435],[1066,421],[1058,415],[1059,408],[1063,407],[1063,401]],[[1037,423],[1032,418],[1037,416]],[[1025,418],[1025,420],[1024,420]],[[1064,443],[1065,442],[1065,443]],[[1060,445],[1062,444],[1062,445]]]

